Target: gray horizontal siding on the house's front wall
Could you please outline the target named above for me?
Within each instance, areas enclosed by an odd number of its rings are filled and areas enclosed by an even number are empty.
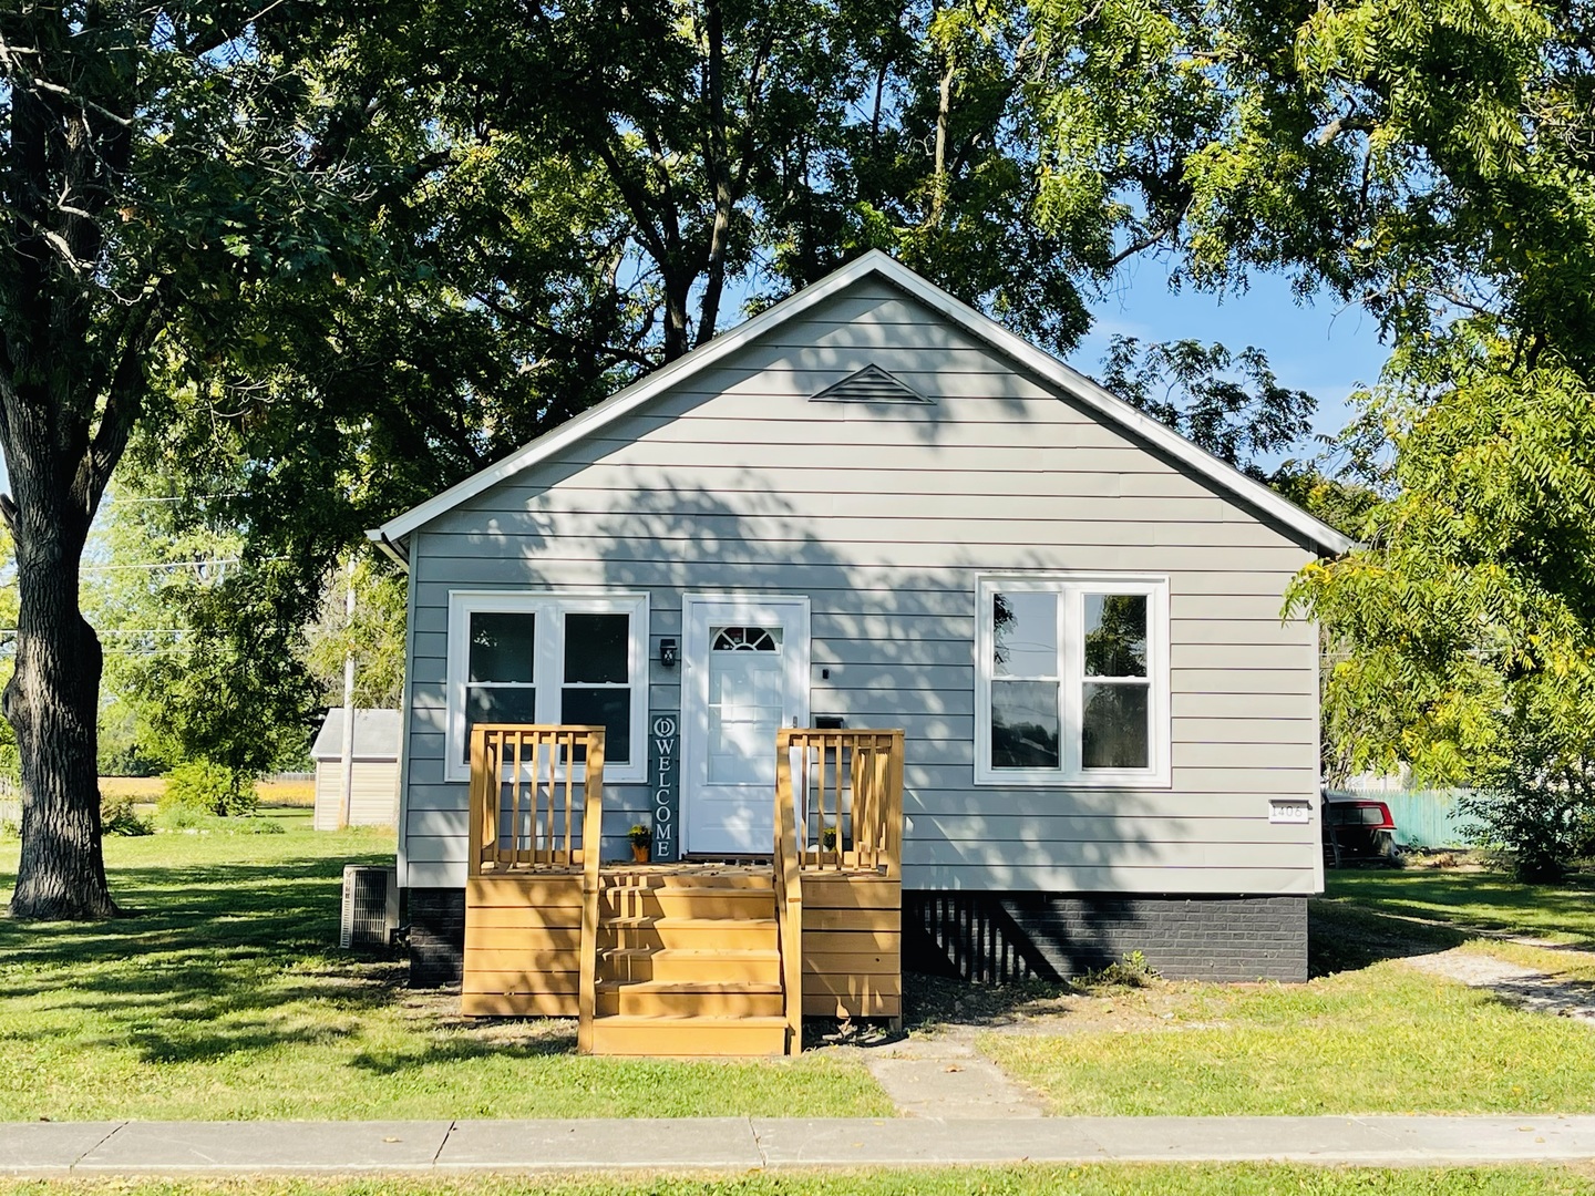
[[[809,403],[874,362],[928,407]],[[651,705],[684,592],[812,600],[815,714],[904,727],[904,887],[1303,895],[1317,828],[1316,636],[1281,624],[1311,552],[880,282],[794,319],[412,539],[408,885],[464,883],[443,780],[451,588],[646,590]],[[975,584],[1018,569],[1169,577],[1172,786],[973,785]],[[828,676],[826,676],[828,673]],[[646,808],[612,786],[611,850]],[[1314,802],[1316,804],[1316,802]]]

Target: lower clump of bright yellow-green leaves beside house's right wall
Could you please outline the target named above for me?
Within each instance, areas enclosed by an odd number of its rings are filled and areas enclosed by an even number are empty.
[[[1376,397],[1394,458],[1369,547],[1306,569],[1290,600],[1330,633],[1346,769],[1483,783],[1530,730],[1538,759],[1595,746],[1595,395],[1504,343],[1447,348],[1448,389],[1392,373]]]

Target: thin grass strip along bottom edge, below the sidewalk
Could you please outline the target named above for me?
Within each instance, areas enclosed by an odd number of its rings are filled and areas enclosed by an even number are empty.
[[[735,1177],[471,1177],[455,1180],[94,1180],[30,1182],[13,1196],[1592,1196],[1569,1167],[1376,1169],[1295,1164],[1091,1164],[1080,1167],[938,1167],[916,1170],[750,1172]]]

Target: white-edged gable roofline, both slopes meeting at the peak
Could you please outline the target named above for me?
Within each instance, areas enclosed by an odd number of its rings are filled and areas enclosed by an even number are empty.
[[[1250,507],[1265,521],[1294,531],[1324,555],[1349,552],[1356,541],[1330,528],[1322,520],[1308,515],[1289,499],[1276,494],[1262,482],[1249,478],[1233,466],[1225,464],[1203,448],[1198,448],[1179,432],[1160,424],[1152,416],[1139,411],[1123,399],[1104,391],[1078,370],[1053,357],[1021,336],[1016,336],[997,321],[983,316],[979,311],[954,298],[941,287],[920,277],[912,269],[882,254],[877,249],[849,262],[841,269],[828,274],[810,287],[804,287],[796,295],[782,300],[767,311],[740,324],[723,336],[716,336],[708,344],[694,349],[684,357],[678,357],[668,365],[654,370],[646,378],[640,378],[622,391],[617,391],[605,402],[592,407],[573,419],[538,437],[528,445],[515,450],[502,461],[472,474],[464,482],[450,486],[426,502],[412,507],[402,515],[396,515],[383,526],[365,533],[372,541],[400,557],[402,541],[418,528],[431,523],[440,515],[447,515],[455,507],[469,502],[477,494],[496,486],[515,474],[545,461],[568,448],[582,437],[592,435],[598,429],[635,411],[638,407],[664,394],[671,386],[691,378],[702,370],[724,360],[758,336],[786,324],[810,308],[823,303],[833,295],[847,290],[855,282],[866,277],[880,277],[924,303],[931,311],[947,319],[955,327],[984,341],[987,346],[1024,367],[1038,378],[1064,391],[1073,400],[1096,413],[1104,423],[1129,432],[1134,439],[1174,458],[1195,475],[1204,478],[1217,491],[1225,493]],[[402,557],[400,557],[402,560]]]

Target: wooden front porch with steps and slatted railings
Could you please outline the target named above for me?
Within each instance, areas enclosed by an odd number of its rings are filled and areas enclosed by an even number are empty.
[[[463,1013],[574,1016],[597,1054],[796,1054],[805,1014],[900,1022],[903,732],[775,751],[769,864],[608,863],[579,845],[603,729],[477,727]]]

